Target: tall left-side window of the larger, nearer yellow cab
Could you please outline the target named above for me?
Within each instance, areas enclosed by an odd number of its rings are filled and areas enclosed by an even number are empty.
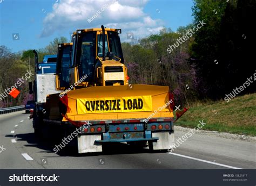
[[[86,82],[93,80],[94,62],[95,62],[95,47],[93,47],[93,38],[95,33],[88,32],[83,35],[81,54],[80,54],[80,67],[79,77],[87,75]]]

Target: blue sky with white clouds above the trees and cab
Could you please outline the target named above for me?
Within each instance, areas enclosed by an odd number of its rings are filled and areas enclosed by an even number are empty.
[[[0,45],[12,52],[43,48],[56,37],[70,39],[78,28],[101,24],[122,28],[121,41],[129,41],[127,32],[139,39],[192,23],[192,6],[192,0],[0,0]]]

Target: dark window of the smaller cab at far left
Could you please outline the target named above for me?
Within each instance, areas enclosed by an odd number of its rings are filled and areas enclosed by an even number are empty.
[[[70,50],[71,46],[66,46],[63,49],[59,73],[60,87],[69,87]]]

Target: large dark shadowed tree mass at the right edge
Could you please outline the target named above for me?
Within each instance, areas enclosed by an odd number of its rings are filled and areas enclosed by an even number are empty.
[[[224,98],[254,73],[254,31],[256,11],[253,0],[194,0],[194,24],[204,20],[205,26],[194,34],[191,62],[196,63],[202,78],[202,97]],[[246,37],[247,39],[244,39]],[[250,38],[250,39],[248,39]],[[246,62],[243,63],[243,62]],[[254,85],[255,87],[255,85]],[[253,85],[246,92],[253,92]]]

